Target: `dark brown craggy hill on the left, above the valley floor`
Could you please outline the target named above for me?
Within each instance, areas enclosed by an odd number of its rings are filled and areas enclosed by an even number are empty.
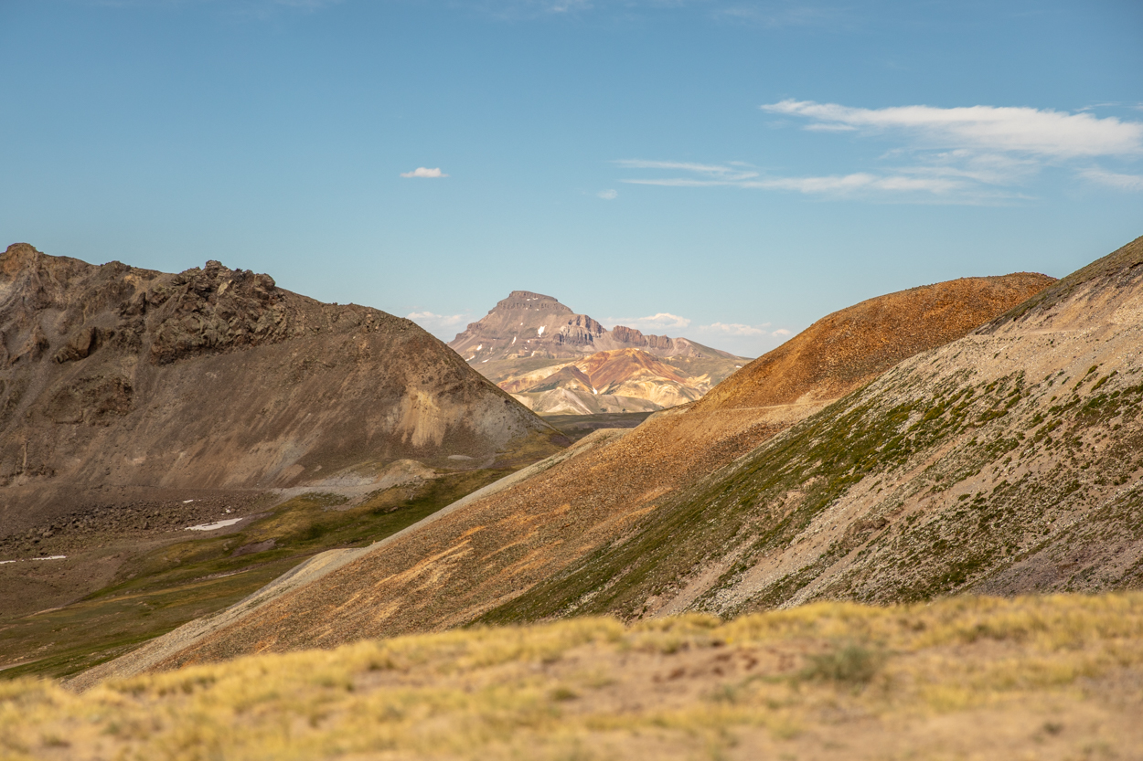
[[[319,482],[491,462],[554,432],[413,322],[217,262],[0,256],[0,526],[109,489]],[[539,441],[543,439],[543,441]],[[449,459],[455,457],[455,459]]]

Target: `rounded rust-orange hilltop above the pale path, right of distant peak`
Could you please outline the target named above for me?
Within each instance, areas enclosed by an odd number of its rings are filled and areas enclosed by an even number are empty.
[[[897,362],[1032,297],[1055,278],[961,278],[879,296],[822,318],[716,386],[696,407],[730,409],[838,399]]]

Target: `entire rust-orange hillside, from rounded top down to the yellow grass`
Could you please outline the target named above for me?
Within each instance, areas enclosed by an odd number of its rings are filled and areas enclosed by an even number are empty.
[[[574,448],[582,454],[331,571],[315,571],[303,585],[283,585],[215,622],[176,630],[134,659],[99,667],[89,681],[472,622],[624,536],[671,492],[824,407],[826,393],[887,370],[904,352],[960,337],[1050,282],[1026,274],[960,280],[845,310],[756,360],[744,376],[751,383],[730,386],[738,388],[729,395],[743,400],[738,406],[703,400],[652,417],[625,435],[594,434]],[[768,393],[760,386],[764,378],[785,391]],[[799,399],[808,391],[818,394],[812,404],[757,403]]]

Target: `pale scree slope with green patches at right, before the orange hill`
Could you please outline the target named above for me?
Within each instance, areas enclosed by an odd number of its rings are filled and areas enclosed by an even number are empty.
[[[1140,587],[1141,476],[1143,238],[901,362],[489,617]]]

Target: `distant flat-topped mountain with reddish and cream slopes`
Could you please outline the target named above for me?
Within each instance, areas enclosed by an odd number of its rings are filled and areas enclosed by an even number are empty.
[[[673,407],[698,399],[749,361],[689,338],[624,326],[607,330],[551,296],[527,290],[512,291],[448,345],[547,415]]]

